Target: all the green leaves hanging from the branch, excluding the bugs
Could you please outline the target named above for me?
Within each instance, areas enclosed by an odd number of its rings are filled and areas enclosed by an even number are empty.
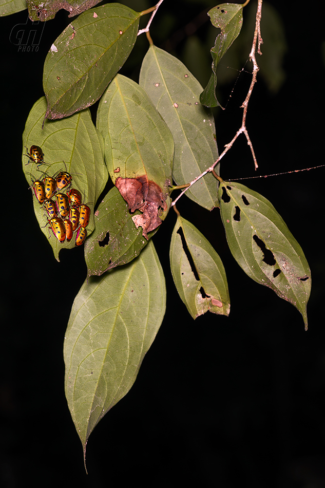
[[[240,33],[242,10],[243,5],[227,3],[209,11],[221,33],[211,50],[213,72],[204,90],[149,35],[139,84],[118,74],[136,42],[139,19],[148,12],[116,3],[82,13],[47,55],[46,98],[27,118],[22,165],[31,186],[45,175],[68,172],[91,211],[85,226],[88,280],[73,303],[64,343],[66,397],[84,453],[95,425],[131,388],[163,320],[164,271],[151,238],[164,232],[177,187],[198,179],[186,196],[198,211],[220,207],[238,264],[292,303],[307,328],[311,276],[303,252],[269,201],[218,176],[218,134],[211,110],[200,103],[220,106],[216,68]],[[94,126],[87,107],[99,99]],[[26,156],[25,146],[30,151],[32,145],[42,148],[43,164]],[[110,190],[108,174],[115,185]],[[60,243],[49,230],[44,204],[34,196],[33,201],[40,228],[59,259],[62,248],[75,246],[75,238]],[[183,303],[194,319],[206,312],[228,315],[220,257],[175,210],[170,267]]]

